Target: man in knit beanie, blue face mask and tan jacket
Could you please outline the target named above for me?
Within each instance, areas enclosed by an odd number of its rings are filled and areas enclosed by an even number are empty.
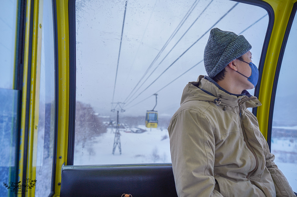
[[[251,48],[242,35],[210,32],[208,76],[187,84],[168,127],[179,197],[295,196],[247,109],[261,105],[246,91],[258,80]]]

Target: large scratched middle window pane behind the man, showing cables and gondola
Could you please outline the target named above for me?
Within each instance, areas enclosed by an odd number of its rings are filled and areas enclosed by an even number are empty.
[[[171,163],[167,127],[206,75],[210,29],[244,35],[258,65],[267,25],[265,9],[234,1],[77,0],[74,164]]]

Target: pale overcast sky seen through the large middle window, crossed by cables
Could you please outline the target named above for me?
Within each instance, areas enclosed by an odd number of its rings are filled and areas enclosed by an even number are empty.
[[[189,0],[174,3],[159,0],[128,1],[114,102],[124,102],[194,2]],[[210,1],[198,0],[197,2],[197,6],[160,54],[149,73],[157,67]],[[148,87],[235,4],[234,1],[213,1],[133,98]],[[124,5],[125,1],[77,1],[76,3],[76,99],[89,103],[96,112],[102,115],[110,114]],[[215,27],[238,34],[266,14],[266,10],[260,7],[240,3]],[[256,65],[259,64],[267,24],[268,16],[242,33],[252,45],[253,62]],[[209,32],[138,98],[132,102],[132,99],[128,100],[128,103],[131,103],[124,108],[126,114],[138,116],[144,115],[146,110],[151,110],[155,105],[154,97],[133,107],[130,106],[153,95],[203,60],[208,37]],[[158,104],[155,110],[159,112],[159,116],[173,115],[180,106],[185,85],[189,81],[196,81],[200,74],[206,74],[203,62],[158,92]]]

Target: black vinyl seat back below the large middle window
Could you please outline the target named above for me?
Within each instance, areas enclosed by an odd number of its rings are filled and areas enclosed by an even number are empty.
[[[172,166],[62,168],[61,197],[177,197]]]

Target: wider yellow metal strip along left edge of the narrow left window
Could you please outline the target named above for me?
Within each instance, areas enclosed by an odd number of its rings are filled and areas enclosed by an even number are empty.
[[[43,0],[34,1],[33,31],[32,31],[32,65],[29,113],[29,137],[26,178],[36,179],[37,134],[39,121],[40,63],[42,45],[42,13]],[[38,181],[41,180],[37,180]],[[37,184],[38,185],[38,184]],[[26,196],[35,196],[35,188],[28,189]]]

